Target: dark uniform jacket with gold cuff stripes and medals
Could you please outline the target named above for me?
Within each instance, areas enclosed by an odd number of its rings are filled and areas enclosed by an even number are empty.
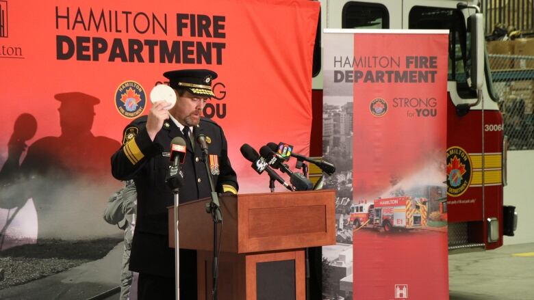
[[[124,131],[123,146],[112,156],[112,174],[118,180],[133,179],[138,194],[137,222],[131,249],[130,270],[154,275],[174,276],[174,250],[168,247],[167,207],[174,205],[174,195],[166,185],[170,159],[170,141],[183,134],[171,120],[151,141],[145,125],[147,116],[131,122]],[[223,129],[212,120],[201,118],[194,135],[206,136],[210,154],[210,171],[219,193],[237,193],[238,182],[228,159],[227,141]],[[210,196],[209,179],[202,161],[199,144],[191,148],[186,139],[187,153],[181,166],[183,186],[179,202]],[[182,266],[182,263],[181,263]]]

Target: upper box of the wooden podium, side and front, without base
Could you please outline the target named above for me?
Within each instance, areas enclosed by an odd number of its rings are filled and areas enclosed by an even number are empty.
[[[247,254],[335,244],[335,191],[223,195],[221,252]],[[180,247],[213,249],[209,198],[180,204]],[[174,209],[168,208],[169,247],[174,247]]]

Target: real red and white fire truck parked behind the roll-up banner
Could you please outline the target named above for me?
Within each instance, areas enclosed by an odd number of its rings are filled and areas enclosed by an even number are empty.
[[[448,219],[450,251],[500,247],[503,235],[513,236],[517,222],[515,207],[503,205],[507,139],[484,53],[479,12],[475,1],[324,0],[318,25],[321,33],[316,38],[314,53],[310,151],[321,156],[327,147],[321,138],[322,29],[449,30],[448,150],[444,155],[448,189],[446,201],[440,205]],[[352,124],[347,127],[352,128]]]

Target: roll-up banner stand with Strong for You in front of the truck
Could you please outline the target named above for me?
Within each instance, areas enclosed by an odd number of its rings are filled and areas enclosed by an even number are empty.
[[[323,299],[448,299],[448,31],[325,30]],[[343,298],[338,298],[343,297]]]

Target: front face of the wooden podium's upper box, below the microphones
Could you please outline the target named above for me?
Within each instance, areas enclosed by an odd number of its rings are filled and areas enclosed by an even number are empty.
[[[335,191],[240,195],[238,253],[335,244]]]

